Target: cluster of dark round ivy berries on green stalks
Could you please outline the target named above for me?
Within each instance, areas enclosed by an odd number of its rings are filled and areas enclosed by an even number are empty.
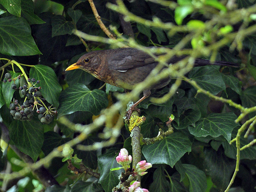
[[[6,73],[4,76],[4,83],[15,82],[16,79],[20,79],[20,75],[12,78],[10,73]],[[15,120],[21,121],[30,121],[34,116],[34,109],[36,108],[36,113],[38,113],[38,119],[43,124],[49,124],[54,119],[54,115],[57,114],[57,111],[54,107],[46,107],[46,100],[43,98],[42,93],[40,92],[41,87],[36,85],[40,84],[40,81],[35,78],[28,78],[27,84],[17,88],[17,85],[13,83],[11,88],[14,90],[20,90],[20,94],[24,95],[24,101],[19,102],[18,100],[13,99],[13,102],[10,104],[10,113]],[[22,103],[22,104],[21,104]],[[39,108],[39,109],[38,109]]]

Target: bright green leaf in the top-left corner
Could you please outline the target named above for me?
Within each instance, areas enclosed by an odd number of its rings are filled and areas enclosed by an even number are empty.
[[[20,17],[21,3],[20,0],[0,0],[0,4],[4,6],[5,9],[12,15]]]

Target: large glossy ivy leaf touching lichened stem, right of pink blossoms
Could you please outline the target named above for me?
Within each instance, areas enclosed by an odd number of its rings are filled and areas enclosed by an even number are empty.
[[[151,164],[168,164],[171,167],[186,153],[191,151],[191,142],[182,133],[175,132],[161,141],[142,148],[142,154]]]

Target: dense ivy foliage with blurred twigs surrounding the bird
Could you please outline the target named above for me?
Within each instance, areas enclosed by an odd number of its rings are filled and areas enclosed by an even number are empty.
[[[95,20],[93,3],[113,36]],[[188,59],[168,68],[171,83],[152,90],[139,104],[140,115],[146,117],[143,138],[157,139],[174,116],[172,134],[151,143],[140,139],[141,160],[153,165],[141,177],[142,187],[150,192],[215,192],[231,181],[229,191],[254,191],[255,1],[93,3],[0,0],[0,187],[112,191],[123,171],[110,171],[119,167],[120,149],[136,156],[123,115],[143,86],[129,94],[102,86],[104,82],[83,70],[65,69],[94,50],[158,46],[174,48],[176,54],[187,50],[192,60],[241,67],[191,69]]]

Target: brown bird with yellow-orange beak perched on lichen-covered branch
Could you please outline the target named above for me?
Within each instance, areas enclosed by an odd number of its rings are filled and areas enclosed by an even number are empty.
[[[157,55],[163,57],[166,54]],[[169,63],[176,63],[186,56],[173,56]],[[110,50],[93,51],[81,56],[76,63],[66,68],[66,71],[73,69],[83,69],[96,78],[108,84],[131,90],[135,84],[142,82],[156,67],[158,62],[147,53],[135,48],[119,48]],[[222,65],[229,67],[239,67],[239,64],[225,61],[214,61],[196,59],[194,67],[203,65]],[[150,95],[151,89],[160,89],[169,84],[170,78],[163,79],[157,84],[143,90],[143,97],[132,105],[128,111],[128,119],[131,117],[132,110],[142,100]]]

